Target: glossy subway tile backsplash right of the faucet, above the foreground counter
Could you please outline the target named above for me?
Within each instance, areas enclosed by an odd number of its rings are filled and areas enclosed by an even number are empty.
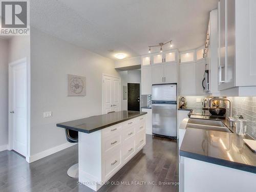
[[[243,115],[248,121],[247,134],[256,139],[256,97],[227,98],[232,101],[232,114]]]

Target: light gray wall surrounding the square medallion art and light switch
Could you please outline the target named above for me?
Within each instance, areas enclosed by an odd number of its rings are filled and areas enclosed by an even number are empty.
[[[102,114],[102,73],[114,61],[34,28],[31,30],[31,155],[66,143],[56,123]],[[85,97],[67,96],[67,74],[86,76]],[[52,118],[43,112],[52,111]]]

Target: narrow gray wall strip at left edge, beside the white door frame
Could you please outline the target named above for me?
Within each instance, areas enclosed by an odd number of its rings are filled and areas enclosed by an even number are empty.
[[[8,144],[8,41],[0,38],[0,151]]]

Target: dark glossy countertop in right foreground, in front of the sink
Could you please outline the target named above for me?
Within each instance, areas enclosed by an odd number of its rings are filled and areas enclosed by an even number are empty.
[[[256,153],[234,133],[187,128],[180,155],[256,174]]]

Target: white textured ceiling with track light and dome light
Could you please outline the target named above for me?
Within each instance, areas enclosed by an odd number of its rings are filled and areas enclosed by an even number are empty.
[[[147,54],[148,46],[168,40],[180,51],[204,45],[209,11],[218,4],[218,0],[30,2],[33,27],[112,59],[119,52],[127,57]]]

